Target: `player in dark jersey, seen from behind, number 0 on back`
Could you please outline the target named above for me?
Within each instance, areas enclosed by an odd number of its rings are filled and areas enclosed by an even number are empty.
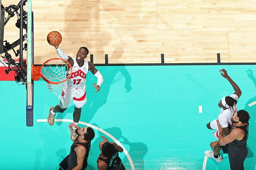
[[[97,160],[99,170],[125,170],[122,160],[119,158],[118,152],[123,152],[121,146],[114,142],[109,143],[106,137],[104,141],[100,141],[100,156]]]

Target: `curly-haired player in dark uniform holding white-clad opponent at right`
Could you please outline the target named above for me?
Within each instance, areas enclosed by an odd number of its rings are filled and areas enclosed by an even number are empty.
[[[212,151],[205,151],[205,155],[221,162],[223,159],[219,155],[220,149],[228,153],[231,170],[244,170],[244,160],[247,157],[247,139],[250,115],[245,110],[239,110],[232,117],[232,127],[229,135],[223,137],[222,126],[217,120],[219,127],[219,140],[210,144]]]

